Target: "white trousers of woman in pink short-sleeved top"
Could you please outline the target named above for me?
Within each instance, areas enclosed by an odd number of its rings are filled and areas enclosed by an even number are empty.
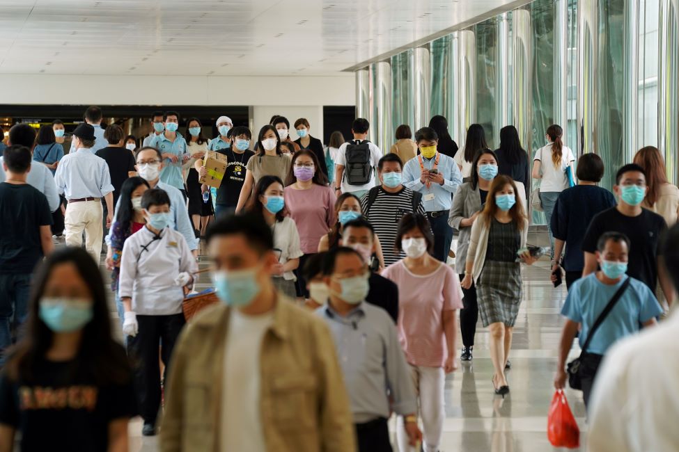
[[[419,416],[422,419],[424,439],[422,447],[424,452],[437,452],[443,433],[444,419],[446,419],[446,401],[444,400],[446,373],[443,367],[411,365],[410,370],[419,401]],[[397,420],[396,440],[400,452],[414,450],[408,444],[403,416],[399,416]]]

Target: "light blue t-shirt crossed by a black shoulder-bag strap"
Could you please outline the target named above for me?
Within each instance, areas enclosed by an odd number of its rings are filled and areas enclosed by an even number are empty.
[[[591,273],[570,286],[568,296],[561,308],[561,315],[582,324],[580,346],[584,346],[596,319],[623,281],[624,278],[618,284],[609,286],[598,280],[596,273]],[[660,314],[662,314],[662,308],[653,292],[646,284],[632,278],[620,300],[596,330],[586,352],[604,355],[618,339],[634,334],[639,331],[640,323],[648,322]]]

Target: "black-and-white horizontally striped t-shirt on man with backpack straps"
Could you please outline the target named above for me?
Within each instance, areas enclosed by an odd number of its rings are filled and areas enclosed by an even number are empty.
[[[368,211],[369,195],[370,192],[361,198],[361,211]],[[366,220],[370,221],[370,224],[375,228],[375,233],[380,237],[385,266],[405,257],[405,254],[400,253],[399,255],[394,250],[394,243],[396,242],[398,222],[406,213],[412,213],[412,190],[410,188],[403,187],[398,193],[389,193],[384,191],[384,188],[379,188],[379,193],[377,193],[375,202],[368,211]],[[416,213],[427,214],[422,202],[417,207]]]

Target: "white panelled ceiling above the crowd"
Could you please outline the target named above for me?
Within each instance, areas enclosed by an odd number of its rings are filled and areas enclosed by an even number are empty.
[[[0,74],[337,74],[510,3],[0,0]]]

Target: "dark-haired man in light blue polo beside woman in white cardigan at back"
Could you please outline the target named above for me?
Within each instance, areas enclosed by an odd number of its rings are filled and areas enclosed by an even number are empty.
[[[187,152],[186,140],[177,134],[179,113],[176,111],[166,111],[163,115],[163,120],[165,121],[165,131],[151,141],[151,147],[159,150],[163,158],[160,180],[177,188],[186,199],[182,164],[186,163],[190,156]]]

